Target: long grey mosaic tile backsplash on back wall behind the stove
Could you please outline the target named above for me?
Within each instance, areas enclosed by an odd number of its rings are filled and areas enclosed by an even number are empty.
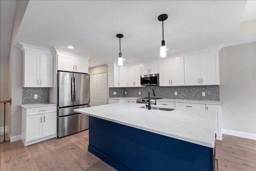
[[[148,90],[153,87],[158,98],[166,99],[190,99],[190,100],[212,100],[220,101],[219,85],[200,85],[200,86],[175,86],[160,87],[158,85],[146,87],[110,87],[109,97],[148,97]],[[113,95],[116,91],[116,95]],[[125,94],[126,91],[126,94]],[[139,94],[140,91],[140,94]],[[177,92],[178,95],[174,95]],[[202,96],[205,92],[205,96]],[[153,97],[153,93],[150,93]]]

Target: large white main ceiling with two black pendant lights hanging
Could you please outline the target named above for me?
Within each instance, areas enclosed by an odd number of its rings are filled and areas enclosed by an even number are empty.
[[[116,34],[122,33],[121,52],[128,63],[159,56],[160,14],[168,14],[164,40],[169,55],[253,42],[255,36],[237,38],[245,6],[246,1],[30,1],[15,42],[74,46],[74,51],[93,56],[92,67],[117,61]]]

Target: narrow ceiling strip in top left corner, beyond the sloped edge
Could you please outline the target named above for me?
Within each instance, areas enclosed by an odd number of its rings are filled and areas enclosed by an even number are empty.
[[[8,56],[16,0],[0,0],[0,55]]]

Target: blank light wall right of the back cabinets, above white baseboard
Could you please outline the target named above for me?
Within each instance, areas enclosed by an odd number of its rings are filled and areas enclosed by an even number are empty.
[[[219,52],[222,129],[256,134],[255,51],[251,42]]]

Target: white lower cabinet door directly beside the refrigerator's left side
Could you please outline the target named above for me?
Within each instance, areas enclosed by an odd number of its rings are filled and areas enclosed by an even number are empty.
[[[43,114],[43,137],[56,133],[56,112]]]

